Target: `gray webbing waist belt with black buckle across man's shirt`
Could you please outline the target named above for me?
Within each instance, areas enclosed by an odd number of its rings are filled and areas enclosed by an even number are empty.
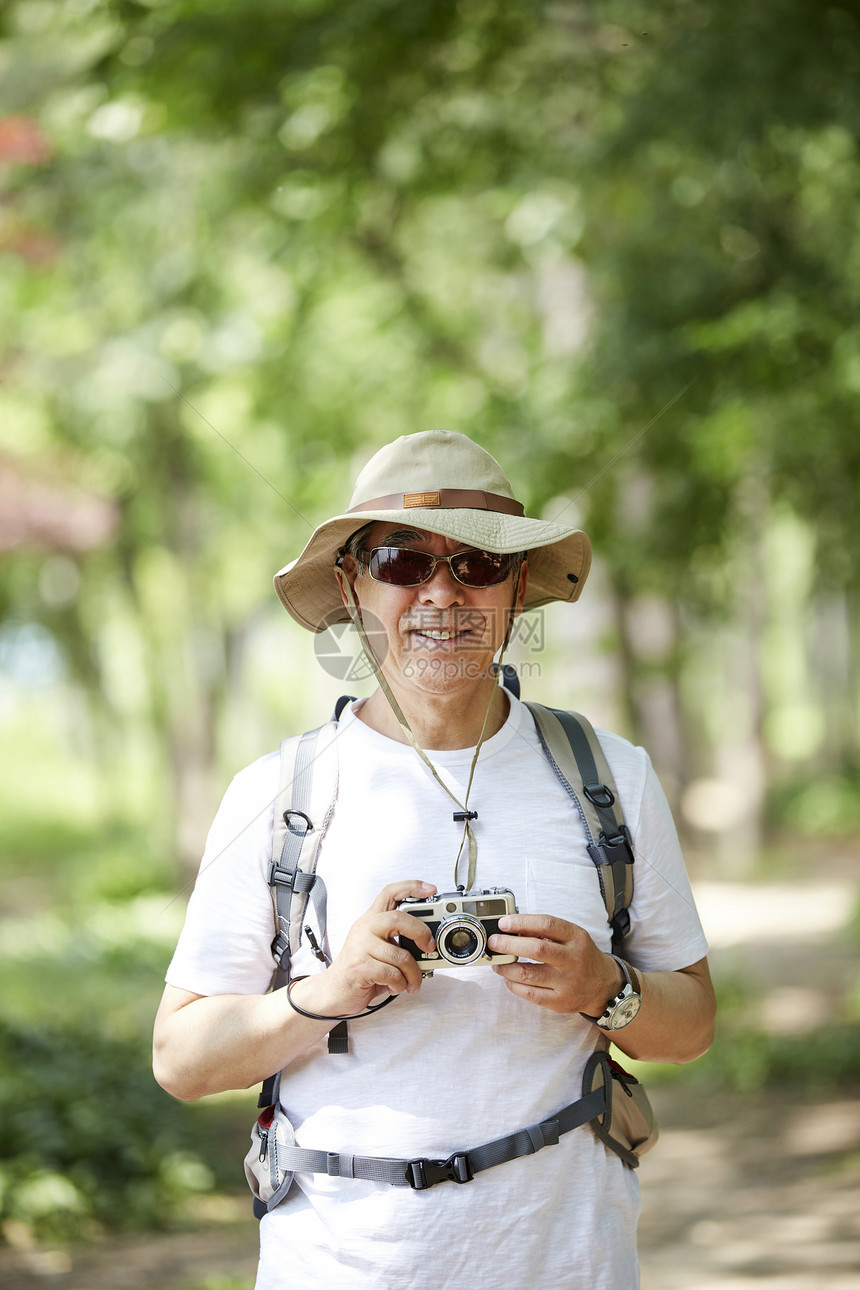
[[[455,1151],[447,1160],[392,1160],[387,1156],[349,1156],[307,1147],[279,1147],[277,1164],[279,1169],[288,1173],[360,1178],[371,1183],[388,1183],[391,1187],[425,1191],[442,1182],[468,1183],[476,1174],[493,1169],[494,1165],[517,1160],[518,1156],[533,1156],[544,1147],[554,1146],[562,1134],[579,1129],[605,1111],[606,1091],[600,1086],[540,1124],[496,1138],[482,1147]]]

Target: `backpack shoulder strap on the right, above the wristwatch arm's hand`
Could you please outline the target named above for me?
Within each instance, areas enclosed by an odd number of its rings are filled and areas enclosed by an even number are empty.
[[[612,931],[612,953],[619,953],[630,928],[633,848],[612,771],[594,728],[581,713],[540,703],[526,707],[549,764],[579,809]]]

